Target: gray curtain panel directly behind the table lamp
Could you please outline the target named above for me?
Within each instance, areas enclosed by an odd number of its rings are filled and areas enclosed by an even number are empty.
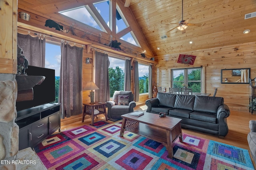
[[[108,67],[110,62],[108,59],[108,54],[95,51],[95,62],[95,84],[99,88],[99,90],[95,90],[95,101],[110,101],[110,88],[108,76]]]

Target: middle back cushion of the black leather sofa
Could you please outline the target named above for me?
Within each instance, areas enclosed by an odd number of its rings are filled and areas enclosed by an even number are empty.
[[[175,109],[192,110],[194,108],[195,96],[177,94],[174,104]]]

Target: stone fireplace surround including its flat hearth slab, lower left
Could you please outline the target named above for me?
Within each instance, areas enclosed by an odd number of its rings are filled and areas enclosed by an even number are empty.
[[[15,123],[16,99],[15,74],[0,73],[0,169],[46,170],[31,148],[18,151],[19,127]]]

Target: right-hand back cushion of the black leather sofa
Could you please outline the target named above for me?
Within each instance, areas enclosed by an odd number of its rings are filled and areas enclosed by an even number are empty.
[[[194,111],[217,113],[218,107],[224,104],[221,97],[196,96],[194,102]]]

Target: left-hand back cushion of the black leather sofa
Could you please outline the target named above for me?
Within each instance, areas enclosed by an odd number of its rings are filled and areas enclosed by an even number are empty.
[[[174,108],[176,94],[158,93],[159,106]]]

